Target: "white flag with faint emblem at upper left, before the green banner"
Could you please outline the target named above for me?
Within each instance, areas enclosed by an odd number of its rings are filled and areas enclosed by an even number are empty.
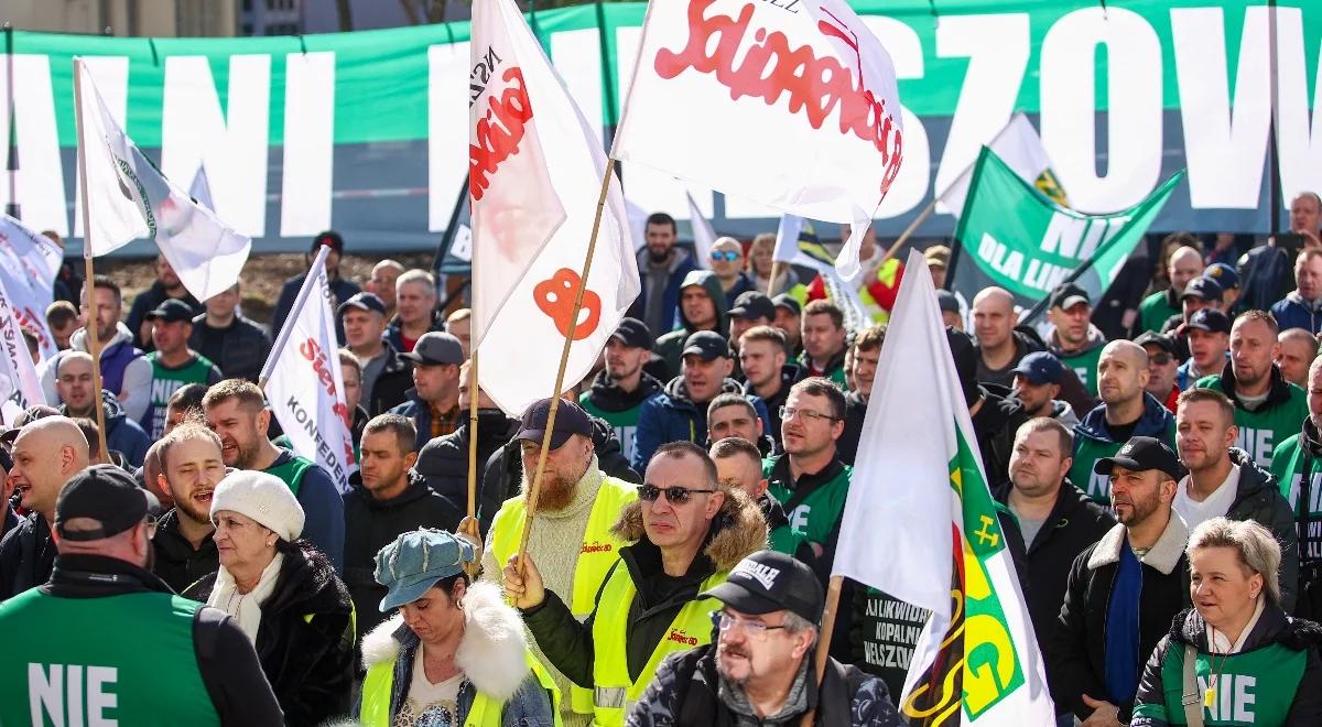
[[[74,58],[74,73],[82,124],[78,151],[86,164],[87,249],[104,255],[149,238],[198,300],[231,288],[253,241],[225,226],[156,169],[115,123],[81,58]]]

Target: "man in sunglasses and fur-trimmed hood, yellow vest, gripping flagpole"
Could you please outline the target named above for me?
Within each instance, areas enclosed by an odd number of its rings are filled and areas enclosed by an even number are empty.
[[[722,488],[695,444],[658,448],[644,481],[640,501],[613,529],[637,542],[620,551],[587,623],[546,590],[535,556],[522,572],[508,562],[504,574],[506,593],[551,664],[592,689],[592,723],[603,727],[624,724],[666,656],[711,642],[711,612],[720,604],[699,593],[767,542],[761,510],[743,490]]]

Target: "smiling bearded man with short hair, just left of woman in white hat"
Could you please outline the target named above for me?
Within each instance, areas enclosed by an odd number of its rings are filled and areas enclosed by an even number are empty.
[[[185,422],[156,444],[160,489],[175,498],[175,509],[156,523],[152,567],[176,593],[221,566],[212,535],[212,492],[225,477],[221,438],[201,423]]]

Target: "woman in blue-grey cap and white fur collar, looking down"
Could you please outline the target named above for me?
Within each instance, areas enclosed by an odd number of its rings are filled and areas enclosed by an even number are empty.
[[[427,527],[377,554],[381,611],[399,613],[362,640],[361,724],[559,724],[555,682],[500,588],[469,582],[464,566],[475,562],[468,539]]]

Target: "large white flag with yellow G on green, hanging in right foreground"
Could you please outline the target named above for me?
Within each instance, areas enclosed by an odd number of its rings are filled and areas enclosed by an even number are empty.
[[[900,702],[914,724],[947,723],[944,705],[951,724],[1055,724],[928,275],[900,283],[832,574],[932,612]]]

